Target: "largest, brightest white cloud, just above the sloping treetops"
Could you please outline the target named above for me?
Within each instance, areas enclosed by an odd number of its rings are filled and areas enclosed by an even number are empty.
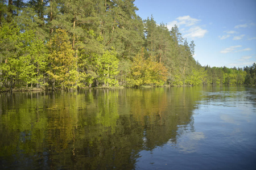
[[[201,20],[196,18],[191,18],[191,16],[179,16],[176,20],[167,24],[167,28],[171,30],[174,25],[177,27],[187,27],[182,28],[181,30],[185,33],[184,37],[190,38],[203,38],[205,33],[207,33],[207,29],[201,28],[200,25],[197,25]]]

